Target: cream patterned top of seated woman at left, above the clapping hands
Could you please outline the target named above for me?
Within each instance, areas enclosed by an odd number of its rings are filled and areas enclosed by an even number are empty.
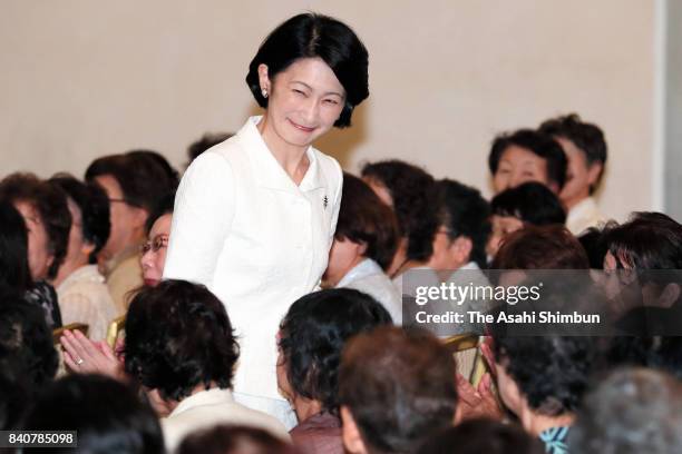
[[[71,273],[57,287],[57,296],[64,325],[86,323],[90,339],[106,339],[109,323],[119,314],[97,265],[86,265]]]

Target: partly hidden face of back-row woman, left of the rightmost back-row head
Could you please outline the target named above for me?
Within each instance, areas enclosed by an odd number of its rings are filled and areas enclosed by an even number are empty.
[[[493,176],[495,194],[528,181],[542,182],[554,193],[558,189],[556,184],[551,184],[547,178],[547,161],[545,159],[516,145],[507,147],[501,154],[497,171]]]

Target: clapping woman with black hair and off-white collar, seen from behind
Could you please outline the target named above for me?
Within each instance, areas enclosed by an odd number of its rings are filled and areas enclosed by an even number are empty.
[[[162,420],[169,452],[186,434],[220,423],[261,427],[289,438],[277,420],[234,401],[238,345],[225,307],[204,286],[164,280],[144,287],[130,303],[125,328],[125,373],[169,412]],[[62,339],[66,362],[76,372],[116,369],[110,352],[107,357],[78,333]],[[155,405],[159,412],[159,403]]]

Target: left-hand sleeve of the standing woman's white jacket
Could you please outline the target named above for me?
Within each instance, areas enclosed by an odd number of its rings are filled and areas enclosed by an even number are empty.
[[[234,216],[234,179],[216,152],[195,159],[175,196],[164,278],[211,286]]]

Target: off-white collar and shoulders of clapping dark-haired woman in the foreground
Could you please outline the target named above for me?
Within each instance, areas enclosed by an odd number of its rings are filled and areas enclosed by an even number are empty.
[[[185,397],[160,423],[168,453],[173,453],[186,435],[217,424],[262,428],[291,441],[282,423],[263,412],[237,404],[230,389],[213,388]]]

